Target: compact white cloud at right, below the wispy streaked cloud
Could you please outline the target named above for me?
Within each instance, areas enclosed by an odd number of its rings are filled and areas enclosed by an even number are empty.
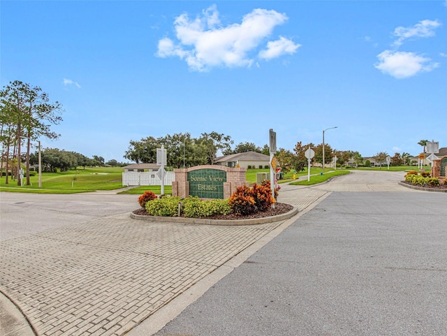
[[[409,78],[418,73],[432,71],[439,66],[431,59],[414,52],[394,52],[385,50],[377,55],[379,62],[374,64],[383,73],[395,78]]]

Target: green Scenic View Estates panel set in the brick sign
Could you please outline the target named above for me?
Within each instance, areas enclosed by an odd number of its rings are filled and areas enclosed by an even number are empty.
[[[226,171],[218,169],[198,169],[188,173],[189,195],[200,198],[223,199],[223,182]]]

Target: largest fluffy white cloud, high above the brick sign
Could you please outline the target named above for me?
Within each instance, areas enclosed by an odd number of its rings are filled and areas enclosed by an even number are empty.
[[[207,71],[214,66],[251,66],[256,49],[272,34],[274,27],[286,20],[285,14],[258,8],[244,15],[240,24],[223,27],[215,5],[203,10],[202,16],[194,20],[184,13],[174,22],[178,43],[162,38],[156,56],[179,57],[194,71]],[[272,59],[293,54],[299,47],[281,37],[268,42],[259,57]]]

